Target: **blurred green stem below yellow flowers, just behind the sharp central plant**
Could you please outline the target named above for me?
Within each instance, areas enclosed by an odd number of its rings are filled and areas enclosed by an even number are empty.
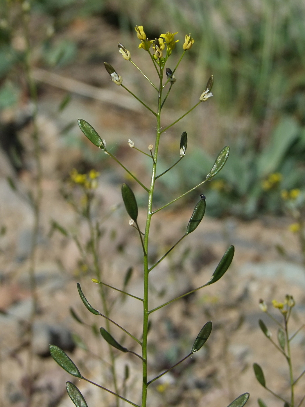
[[[101,280],[102,276],[101,276],[100,263],[99,263],[99,259],[98,259],[97,238],[96,238],[96,233],[95,233],[96,231],[94,229],[94,226],[92,224],[92,219],[91,219],[91,211],[90,211],[91,200],[88,198],[87,201],[88,201],[87,219],[88,219],[89,230],[90,230],[92,254],[93,254],[93,258],[94,258],[94,269],[95,269],[95,273],[96,273],[96,278],[98,280]],[[107,306],[106,295],[105,295],[104,287],[102,284],[100,285],[100,298],[102,300],[102,306],[103,306],[104,313],[105,313],[106,317],[109,317],[109,309]],[[109,319],[106,319],[106,329],[109,333],[111,333]],[[115,393],[118,393],[118,379],[117,379],[117,374],[115,371],[115,358],[114,358],[113,348],[110,344],[109,344],[109,354],[110,354],[110,360],[111,360],[111,374],[112,374],[112,378],[113,378],[113,385],[114,385]],[[118,398],[115,401],[116,401],[116,406],[119,407],[120,403],[119,403]]]

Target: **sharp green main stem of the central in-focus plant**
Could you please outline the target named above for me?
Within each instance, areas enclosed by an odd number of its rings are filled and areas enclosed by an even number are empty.
[[[161,65],[161,64],[160,64]],[[159,94],[158,94],[158,109],[157,109],[157,133],[155,141],[155,151],[153,154],[153,170],[150,181],[150,190],[148,192],[148,208],[145,226],[145,236],[144,236],[144,301],[143,301],[143,341],[142,341],[142,357],[143,357],[143,384],[142,384],[142,407],[146,407],[147,398],[147,334],[148,334],[148,235],[150,228],[150,221],[153,215],[153,193],[156,181],[156,168],[157,168],[157,158],[158,158],[158,148],[160,140],[160,122],[161,122],[161,98],[162,98],[162,81],[163,81],[163,70],[164,66],[160,66],[160,84],[159,84]]]

